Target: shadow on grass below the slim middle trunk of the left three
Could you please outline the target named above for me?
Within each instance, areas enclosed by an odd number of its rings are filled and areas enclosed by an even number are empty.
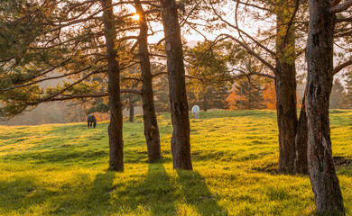
[[[152,215],[177,215],[174,193],[175,187],[162,163],[149,165],[148,174],[143,183],[127,189],[126,203],[132,210],[140,205],[146,207]]]

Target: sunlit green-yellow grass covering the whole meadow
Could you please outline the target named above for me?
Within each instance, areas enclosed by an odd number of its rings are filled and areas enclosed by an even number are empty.
[[[125,172],[107,170],[107,122],[0,126],[1,215],[312,215],[308,176],[271,172],[276,113],[201,112],[190,120],[194,171],[173,170],[171,118],[158,115],[162,161],[147,164],[141,116],[124,122]],[[352,159],[352,111],[330,114],[334,156]],[[352,215],[352,167],[338,167]]]

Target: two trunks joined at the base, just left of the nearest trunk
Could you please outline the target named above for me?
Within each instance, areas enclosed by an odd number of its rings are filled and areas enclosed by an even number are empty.
[[[276,113],[279,129],[279,171],[287,174],[308,174],[307,136],[304,101],[297,120],[295,33],[290,23],[294,1],[277,6],[276,13]],[[286,12],[280,10],[286,8]],[[285,14],[286,13],[286,14]]]

